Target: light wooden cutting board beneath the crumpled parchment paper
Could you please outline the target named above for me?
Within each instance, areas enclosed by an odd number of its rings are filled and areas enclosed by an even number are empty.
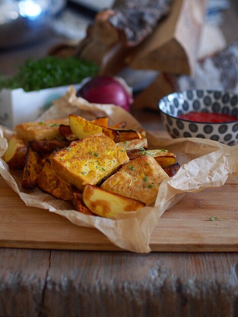
[[[238,251],[238,177],[220,188],[188,193],[153,231],[152,251]],[[44,209],[27,207],[0,178],[0,247],[120,250],[97,229],[79,227]],[[221,221],[211,221],[218,217]]]

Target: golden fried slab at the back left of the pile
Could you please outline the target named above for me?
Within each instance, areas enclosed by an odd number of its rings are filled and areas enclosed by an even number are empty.
[[[26,122],[16,126],[19,138],[30,140],[50,140],[60,137],[59,126],[68,125],[68,119]]]

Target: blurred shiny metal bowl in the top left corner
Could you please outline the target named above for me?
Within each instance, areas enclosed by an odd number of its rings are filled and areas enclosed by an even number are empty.
[[[0,49],[35,41],[65,0],[0,0]]]

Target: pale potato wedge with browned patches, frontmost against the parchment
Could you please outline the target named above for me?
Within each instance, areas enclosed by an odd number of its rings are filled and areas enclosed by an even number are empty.
[[[114,218],[122,212],[137,211],[145,207],[140,201],[90,184],[85,186],[83,201],[94,214],[106,218]]]

